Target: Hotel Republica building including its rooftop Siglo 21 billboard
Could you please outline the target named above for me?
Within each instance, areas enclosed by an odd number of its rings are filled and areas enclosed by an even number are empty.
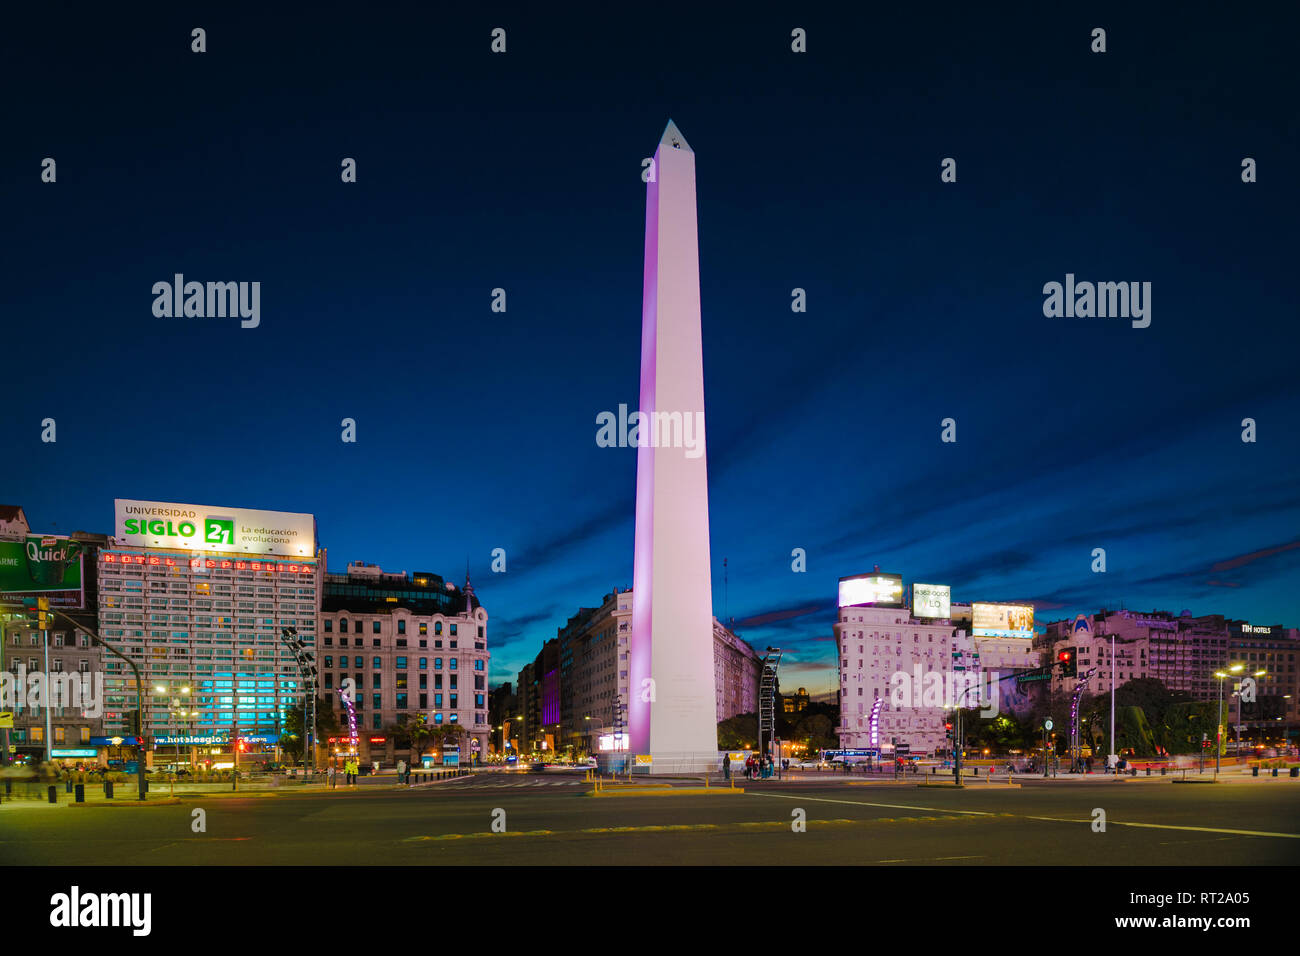
[[[99,549],[99,633],[140,671],[104,658],[104,732],[146,737],[162,760],[274,758],[304,685],[283,635],[316,641],[324,553],[312,515],[118,499]]]

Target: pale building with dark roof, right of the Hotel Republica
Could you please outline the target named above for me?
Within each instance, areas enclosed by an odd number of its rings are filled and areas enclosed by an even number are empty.
[[[399,747],[394,728],[421,714],[434,727],[464,728],[462,762],[488,756],[488,611],[468,578],[458,589],[428,571],[348,564],[343,574],[324,576],[320,619],[321,692],[346,727],[339,689],[344,680],[354,682],[363,762],[394,766],[402,757],[419,763],[408,745]],[[424,754],[432,747],[424,747]],[[448,740],[443,749],[452,747]]]

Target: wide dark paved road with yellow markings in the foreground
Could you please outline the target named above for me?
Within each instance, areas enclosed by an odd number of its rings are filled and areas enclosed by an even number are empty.
[[[590,797],[484,774],[413,790],[0,808],[0,861],[250,864],[1300,864],[1300,786],[1057,782],[942,790],[768,780],[744,795]],[[1095,809],[1106,831],[1095,832]],[[194,832],[194,810],[207,831]],[[806,831],[792,822],[798,810]],[[504,834],[491,832],[504,813]]]

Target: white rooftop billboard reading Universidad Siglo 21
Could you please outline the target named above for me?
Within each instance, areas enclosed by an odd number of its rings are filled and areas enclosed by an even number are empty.
[[[113,509],[113,536],[122,545],[226,554],[316,555],[316,519],[312,515],[130,498],[116,498]]]

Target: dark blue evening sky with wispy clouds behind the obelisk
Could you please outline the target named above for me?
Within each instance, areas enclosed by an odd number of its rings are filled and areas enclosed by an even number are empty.
[[[313,512],[335,568],[468,557],[514,679],[632,580],[636,453],[595,416],[637,403],[672,117],[715,613],[784,683],[827,688],[836,579],[874,564],[1040,620],[1300,624],[1294,14],[87,9],[10,14],[0,57],[0,501],[39,529],[134,497]],[[156,319],[177,272],[260,281],[260,328]],[[1067,272],[1152,282],[1150,326],[1044,317]]]

